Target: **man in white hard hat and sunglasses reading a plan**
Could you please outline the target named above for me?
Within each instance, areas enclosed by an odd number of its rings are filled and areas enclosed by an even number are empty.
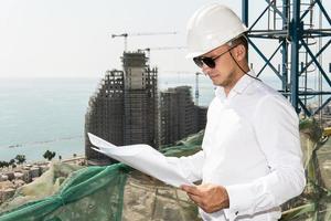
[[[218,3],[188,24],[189,57],[217,86],[202,151],[169,162],[200,186],[182,186],[204,220],[278,220],[300,194],[305,170],[298,116],[290,103],[249,71],[246,27]]]

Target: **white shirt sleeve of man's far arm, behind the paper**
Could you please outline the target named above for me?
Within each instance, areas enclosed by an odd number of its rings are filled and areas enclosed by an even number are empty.
[[[169,164],[174,167],[191,182],[202,179],[202,168],[204,161],[204,152],[199,152],[189,157],[167,157]]]

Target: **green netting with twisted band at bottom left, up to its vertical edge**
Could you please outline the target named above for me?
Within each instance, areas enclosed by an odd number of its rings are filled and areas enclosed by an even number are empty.
[[[54,165],[50,173],[40,178],[42,181],[20,188],[1,207],[0,220],[120,220],[126,168],[122,165],[78,170],[68,167]],[[51,196],[45,197],[47,193]]]

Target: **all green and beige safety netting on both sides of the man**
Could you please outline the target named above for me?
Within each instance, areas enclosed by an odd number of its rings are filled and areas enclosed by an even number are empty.
[[[331,139],[313,119],[301,120],[301,144],[308,185],[282,206],[282,220],[331,220]],[[161,151],[188,156],[201,149],[203,131]],[[21,187],[0,206],[0,221],[201,220],[186,194],[147,175],[117,164],[81,167],[56,162],[35,181]]]

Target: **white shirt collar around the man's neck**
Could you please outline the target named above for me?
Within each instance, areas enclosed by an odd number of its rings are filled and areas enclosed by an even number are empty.
[[[253,71],[249,71],[247,72],[247,74],[252,75],[252,76],[255,76],[255,73]],[[229,91],[227,97],[225,95],[225,92],[224,92],[224,87],[222,86],[217,86],[216,87],[216,91],[215,91],[215,95],[217,97],[220,97],[221,99],[225,99],[225,98],[231,98],[237,94],[242,94],[246,88],[247,86],[252,83],[252,77],[248,76],[247,74],[244,74],[239,81],[234,85],[234,87]]]

